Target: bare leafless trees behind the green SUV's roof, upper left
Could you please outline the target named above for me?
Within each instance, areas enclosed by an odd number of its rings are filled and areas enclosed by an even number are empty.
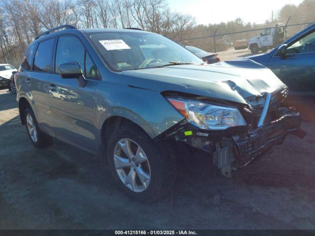
[[[1,61],[20,59],[41,32],[76,28],[140,28],[183,38],[194,18],[170,10],[165,0],[0,0]]]

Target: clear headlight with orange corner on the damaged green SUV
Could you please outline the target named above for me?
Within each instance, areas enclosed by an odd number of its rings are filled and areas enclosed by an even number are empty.
[[[192,124],[201,129],[223,130],[246,125],[237,108],[223,107],[194,100],[167,98]]]

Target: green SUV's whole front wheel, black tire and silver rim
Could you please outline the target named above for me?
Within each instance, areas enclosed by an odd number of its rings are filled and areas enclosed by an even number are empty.
[[[107,161],[116,185],[140,202],[157,200],[175,182],[176,162],[169,143],[155,143],[136,125],[123,125],[113,132]]]

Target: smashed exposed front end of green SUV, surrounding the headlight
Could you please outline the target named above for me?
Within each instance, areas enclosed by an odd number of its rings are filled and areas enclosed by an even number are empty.
[[[157,139],[175,139],[210,154],[213,163],[225,177],[232,177],[232,170],[248,165],[274,145],[281,144],[287,134],[303,138],[300,114],[294,108],[283,106],[288,89],[281,87],[261,96],[246,98],[247,105],[228,101],[211,101],[237,107],[246,124],[224,130],[198,129],[186,119],[174,125]],[[174,97],[175,94],[171,94]],[[183,95],[183,94],[176,94]],[[205,97],[194,97],[204,101]]]

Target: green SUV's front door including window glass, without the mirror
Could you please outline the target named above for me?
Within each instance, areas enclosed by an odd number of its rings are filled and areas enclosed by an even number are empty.
[[[59,36],[54,61],[50,104],[56,136],[81,148],[96,149],[95,90],[98,80],[95,64],[75,35]],[[87,79],[84,88],[79,86],[77,79],[63,79],[59,75],[60,64],[74,61],[80,64]]]

